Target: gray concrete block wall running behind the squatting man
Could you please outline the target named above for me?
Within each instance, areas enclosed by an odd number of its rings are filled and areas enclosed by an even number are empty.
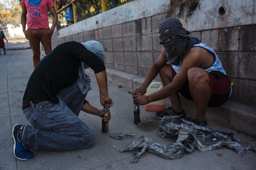
[[[136,3],[140,1],[132,1],[131,3],[135,3],[135,5],[130,4],[130,6],[137,7],[138,5],[136,5]],[[234,3],[230,0],[226,1],[231,4]],[[167,4],[168,2],[169,1],[166,0],[165,3]],[[150,0],[148,3],[155,3],[155,1]],[[162,3],[164,3],[164,1],[162,1]],[[218,25],[216,25],[214,20],[200,18],[201,21],[199,21],[198,17],[200,17],[203,12],[201,11],[203,9],[202,7],[209,8],[214,12],[213,9],[216,8],[216,4],[214,3],[215,2],[209,4],[208,0],[200,1],[201,9],[195,9],[188,22],[184,21],[184,17],[181,17],[180,20],[184,27],[191,31],[190,36],[201,39],[203,43],[213,48],[219,56],[227,75],[231,77],[233,82],[233,93],[230,99],[256,106],[256,22],[253,18],[249,18],[248,15],[219,16],[216,13],[214,13],[214,15],[216,15],[214,17],[222,20],[221,23],[218,22]],[[239,6],[240,1],[237,1],[237,3]],[[248,3],[252,2],[248,1]],[[129,3],[125,5],[125,9],[129,8]],[[120,6],[120,8],[122,6]],[[252,10],[251,13],[255,13],[255,9],[250,9],[249,6],[248,4],[248,10]],[[142,8],[152,12],[150,8]],[[118,8],[112,10],[118,10]],[[112,10],[107,12],[110,13]],[[141,10],[139,10],[141,13],[147,14],[147,12]],[[230,8],[230,10],[234,10],[232,11],[233,13],[240,14],[240,11],[236,11],[240,10],[240,8]],[[127,12],[129,10],[123,11]],[[105,15],[108,15],[107,12]],[[115,11],[112,13],[117,14]],[[158,25],[165,18],[166,13],[158,12],[157,14],[143,15],[142,18],[137,17],[136,19],[133,17],[130,19],[124,17],[123,21],[117,24],[115,24],[116,20],[109,19],[109,22],[113,22],[113,25],[109,23],[105,23],[104,25],[102,23],[101,26],[95,26],[94,23],[92,28],[96,27],[95,29],[82,29],[83,26],[87,25],[86,27],[88,27],[91,22],[100,20],[103,14],[99,15],[99,17],[95,16],[96,18],[92,17],[91,19],[84,20],[84,23],[78,22],[77,27],[74,24],[61,29],[59,32],[55,32],[52,37],[53,48],[67,41],[84,42],[97,40],[104,46],[104,62],[107,68],[145,77],[149,68],[154,61],[156,61],[162,50],[162,46],[159,45]],[[133,15],[131,14],[131,16]],[[204,14],[204,16],[207,15]],[[231,22],[234,20],[234,17],[238,17],[238,19],[246,17],[245,19],[248,21],[240,20],[241,22],[237,23]],[[103,17],[102,20],[105,21],[106,18]],[[207,24],[203,24],[202,20],[205,20]],[[199,28],[202,29],[200,30]],[[67,30],[69,32],[73,30],[73,32],[68,34]],[[63,37],[63,35],[66,36]],[[160,77],[157,76],[155,80],[160,81]]]

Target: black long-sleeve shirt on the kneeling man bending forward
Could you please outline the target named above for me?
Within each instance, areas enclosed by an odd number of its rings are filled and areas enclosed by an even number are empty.
[[[62,43],[39,62],[29,78],[23,100],[48,99],[58,103],[57,93],[77,80],[81,61],[94,73],[106,69],[102,59],[81,43]]]

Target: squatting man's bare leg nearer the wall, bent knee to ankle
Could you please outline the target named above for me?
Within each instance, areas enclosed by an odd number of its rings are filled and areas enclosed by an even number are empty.
[[[206,109],[211,98],[211,88],[208,73],[199,67],[188,70],[189,90],[195,102],[195,119],[206,121]]]

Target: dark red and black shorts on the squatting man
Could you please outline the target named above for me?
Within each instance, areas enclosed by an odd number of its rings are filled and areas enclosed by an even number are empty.
[[[220,106],[225,103],[230,96],[231,79],[220,71],[207,72],[210,80],[211,98],[208,102],[208,107]],[[177,73],[172,68],[172,77]],[[192,100],[189,82],[187,82],[180,90],[179,93],[186,99]]]

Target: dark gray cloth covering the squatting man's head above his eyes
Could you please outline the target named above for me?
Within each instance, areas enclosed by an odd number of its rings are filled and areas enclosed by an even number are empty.
[[[185,30],[185,28],[182,27],[180,20],[173,17],[165,18],[164,20],[162,20],[162,22],[159,24],[158,29],[160,39],[159,44],[162,44],[166,38],[173,35],[178,35],[186,38],[186,35],[190,34],[188,30]]]

